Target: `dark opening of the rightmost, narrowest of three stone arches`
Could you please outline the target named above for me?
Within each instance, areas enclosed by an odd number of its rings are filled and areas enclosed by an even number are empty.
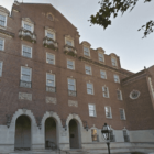
[[[69,122],[69,143],[70,148],[79,148],[79,129],[75,119]]]

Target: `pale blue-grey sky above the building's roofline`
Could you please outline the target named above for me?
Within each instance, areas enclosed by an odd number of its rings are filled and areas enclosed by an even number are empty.
[[[23,0],[23,2],[51,3],[66,19],[68,19],[80,34],[80,42],[87,41],[91,48],[102,47],[106,54],[116,53],[121,66],[131,72],[140,72],[146,66],[154,65],[154,33],[142,38],[143,31],[138,30],[150,20],[154,20],[154,0],[144,3],[139,0],[132,12],[127,12],[113,19],[112,25],[107,30],[102,26],[90,26],[91,14],[100,6],[99,0]],[[14,0],[0,0],[0,6],[11,10]],[[22,2],[22,0],[19,0]]]

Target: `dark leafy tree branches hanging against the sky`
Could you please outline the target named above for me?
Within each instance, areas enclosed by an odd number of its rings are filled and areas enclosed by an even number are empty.
[[[151,2],[152,0],[144,0],[144,3]],[[118,13],[121,12],[122,15],[127,11],[132,11],[139,0],[101,0],[99,1],[100,10],[96,13],[96,15],[90,16],[91,24],[98,24],[103,26],[106,30],[109,25],[111,25],[111,18],[118,16]],[[154,31],[154,21],[146,22],[145,25],[142,25],[138,31],[144,31],[144,37],[151,34]]]

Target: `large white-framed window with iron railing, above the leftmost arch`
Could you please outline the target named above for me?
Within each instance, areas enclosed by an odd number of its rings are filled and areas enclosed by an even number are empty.
[[[31,81],[31,68],[21,67],[21,80],[22,81]]]

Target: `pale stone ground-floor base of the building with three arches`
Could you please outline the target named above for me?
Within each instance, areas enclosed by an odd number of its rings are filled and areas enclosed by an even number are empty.
[[[50,131],[46,129],[48,120],[54,124]],[[22,128],[24,132],[21,133],[20,127],[24,123],[23,121],[28,124]],[[46,112],[40,125],[36,123],[31,110],[19,109],[13,114],[10,125],[0,125],[0,154],[12,153],[14,148],[19,147],[42,151],[47,147],[46,142],[48,141],[54,142],[56,147],[62,151],[80,148],[95,154],[108,153],[101,129],[94,125],[86,130],[78,114],[69,114],[66,120],[66,127],[64,127],[56,112]],[[97,132],[95,138],[92,135],[94,130]],[[129,131],[125,129],[112,129],[112,136],[114,141],[110,144],[111,153],[154,152],[154,130]],[[26,144],[21,145],[20,143],[22,142]]]

